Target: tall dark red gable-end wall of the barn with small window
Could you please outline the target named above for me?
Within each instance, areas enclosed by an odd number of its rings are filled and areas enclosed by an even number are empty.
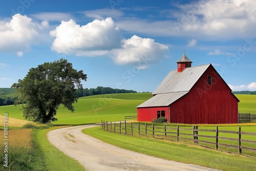
[[[238,123],[238,99],[210,66],[188,94],[170,104],[170,122]]]

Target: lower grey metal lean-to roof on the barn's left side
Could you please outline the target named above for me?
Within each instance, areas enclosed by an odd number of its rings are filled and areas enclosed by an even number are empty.
[[[187,94],[187,92],[176,92],[176,93],[165,93],[157,94],[142,104],[138,105],[137,108],[146,108],[152,106],[168,106]]]

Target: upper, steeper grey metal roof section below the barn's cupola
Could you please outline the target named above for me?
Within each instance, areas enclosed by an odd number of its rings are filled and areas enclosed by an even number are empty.
[[[153,92],[153,95],[189,91],[210,65],[189,67],[182,72],[170,71]]]

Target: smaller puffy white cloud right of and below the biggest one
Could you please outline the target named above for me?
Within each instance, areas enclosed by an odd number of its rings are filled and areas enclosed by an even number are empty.
[[[155,42],[151,38],[141,38],[136,35],[122,40],[122,48],[111,51],[110,56],[118,65],[129,63],[143,63],[140,69],[145,69],[147,64],[154,62],[168,51],[168,47]]]

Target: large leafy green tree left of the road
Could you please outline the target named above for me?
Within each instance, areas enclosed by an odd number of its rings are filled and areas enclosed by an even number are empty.
[[[22,108],[25,119],[40,123],[55,121],[60,104],[74,112],[76,89],[82,90],[81,80],[86,79],[87,74],[73,69],[67,59],[45,62],[13,83],[12,88],[16,88],[18,95],[15,105],[26,103]]]

